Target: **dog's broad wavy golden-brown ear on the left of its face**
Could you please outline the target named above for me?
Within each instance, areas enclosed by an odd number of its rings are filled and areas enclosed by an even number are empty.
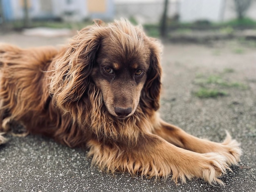
[[[93,25],[78,32],[70,46],[58,54],[51,77],[50,93],[64,111],[79,105],[90,84],[90,73],[101,41],[101,26]],[[78,106],[77,106],[78,107]]]

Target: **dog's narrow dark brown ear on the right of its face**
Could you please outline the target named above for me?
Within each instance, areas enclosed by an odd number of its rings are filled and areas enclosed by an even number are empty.
[[[141,92],[141,101],[144,107],[159,109],[159,99],[161,90],[160,66],[161,48],[159,42],[153,38],[149,39],[150,44],[150,67],[147,71],[147,80]]]

